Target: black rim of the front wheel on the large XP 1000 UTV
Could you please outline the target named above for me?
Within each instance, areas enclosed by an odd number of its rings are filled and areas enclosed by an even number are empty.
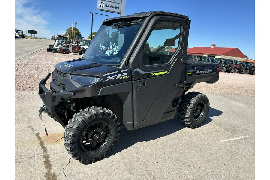
[[[95,122],[83,132],[81,145],[85,151],[95,152],[106,146],[110,137],[110,126],[105,122]]]

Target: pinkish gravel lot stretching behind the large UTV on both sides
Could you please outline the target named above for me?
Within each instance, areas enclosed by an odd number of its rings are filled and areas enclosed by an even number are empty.
[[[77,53],[50,53],[44,48],[17,59],[15,61],[15,91],[38,91],[38,83],[48,73],[52,73],[55,64],[80,57],[82,55]],[[51,77],[48,82],[50,81]],[[49,87],[49,83],[46,87]],[[255,75],[220,72],[217,83],[198,83],[191,90],[209,94],[255,96]]]

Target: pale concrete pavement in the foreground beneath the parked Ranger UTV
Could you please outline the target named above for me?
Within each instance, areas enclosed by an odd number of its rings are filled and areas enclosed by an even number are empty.
[[[187,128],[175,116],[134,131],[121,128],[108,157],[83,165],[65,150],[64,128],[44,114],[46,136],[38,93],[15,92],[15,178],[254,179],[254,97],[206,95],[211,108],[202,127]]]

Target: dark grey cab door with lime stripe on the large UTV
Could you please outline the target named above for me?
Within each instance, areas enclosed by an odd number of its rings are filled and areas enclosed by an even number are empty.
[[[131,57],[134,128],[172,119],[184,91],[189,27],[156,16]]]

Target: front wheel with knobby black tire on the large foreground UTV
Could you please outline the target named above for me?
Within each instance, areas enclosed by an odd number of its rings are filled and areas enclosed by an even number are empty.
[[[69,120],[64,146],[72,158],[90,164],[106,157],[116,146],[119,135],[120,123],[111,110],[88,107]]]

